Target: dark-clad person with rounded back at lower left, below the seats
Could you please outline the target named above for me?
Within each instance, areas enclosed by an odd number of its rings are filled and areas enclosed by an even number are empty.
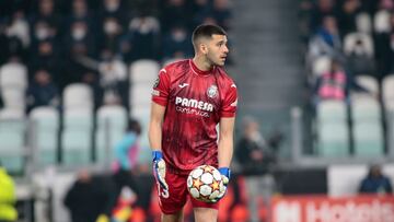
[[[80,171],[63,200],[71,213],[71,221],[108,221],[115,201],[112,199],[114,190],[111,178],[92,175],[88,170]]]

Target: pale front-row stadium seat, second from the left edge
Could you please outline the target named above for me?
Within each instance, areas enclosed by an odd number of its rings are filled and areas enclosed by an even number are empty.
[[[36,107],[30,113],[35,136],[34,149],[38,166],[56,164],[59,112],[50,106]]]

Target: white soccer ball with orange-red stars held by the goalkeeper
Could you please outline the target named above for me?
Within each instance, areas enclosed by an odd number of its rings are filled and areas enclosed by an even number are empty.
[[[197,200],[212,202],[223,192],[224,185],[217,168],[201,165],[189,173],[187,190]]]

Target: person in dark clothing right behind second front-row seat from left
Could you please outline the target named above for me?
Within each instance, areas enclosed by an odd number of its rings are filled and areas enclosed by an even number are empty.
[[[47,70],[38,70],[27,89],[27,113],[37,106],[59,106],[59,90]]]

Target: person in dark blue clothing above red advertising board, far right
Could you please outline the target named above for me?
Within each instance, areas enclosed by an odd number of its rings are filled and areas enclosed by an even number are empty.
[[[380,165],[372,165],[366,178],[361,180],[359,192],[392,195],[393,187],[387,176],[382,173]]]

